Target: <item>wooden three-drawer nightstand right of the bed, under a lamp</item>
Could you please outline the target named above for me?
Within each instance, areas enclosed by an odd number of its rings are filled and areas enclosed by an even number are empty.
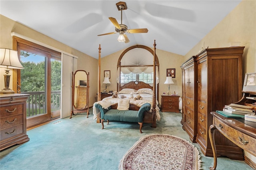
[[[179,113],[179,98],[180,96],[161,95],[162,112]]]

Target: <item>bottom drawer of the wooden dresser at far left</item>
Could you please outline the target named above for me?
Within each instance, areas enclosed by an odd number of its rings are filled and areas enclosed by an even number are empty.
[[[0,131],[1,131],[1,141],[2,141],[4,139],[23,133],[23,124],[15,127],[1,129]]]

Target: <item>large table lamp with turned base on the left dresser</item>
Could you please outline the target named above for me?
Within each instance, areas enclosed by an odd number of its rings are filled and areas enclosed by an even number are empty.
[[[12,94],[14,91],[9,88],[11,77],[11,75],[9,75],[9,69],[24,69],[19,61],[18,51],[0,48],[0,67],[6,68],[6,74],[4,75],[4,89],[0,91],[0,94]]]

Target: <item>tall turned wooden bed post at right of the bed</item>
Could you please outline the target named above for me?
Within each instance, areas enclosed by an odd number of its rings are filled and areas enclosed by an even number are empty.
[[[152,127],[156,127],[156,40],[154,40],[154,72],[153,72],[153,109],[152,109]]]

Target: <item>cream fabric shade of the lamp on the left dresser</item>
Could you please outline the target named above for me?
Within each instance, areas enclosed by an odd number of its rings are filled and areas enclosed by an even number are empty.
[[[0,48],[0,65],[11,69],[24,69],[18,58],[18,51]]]

